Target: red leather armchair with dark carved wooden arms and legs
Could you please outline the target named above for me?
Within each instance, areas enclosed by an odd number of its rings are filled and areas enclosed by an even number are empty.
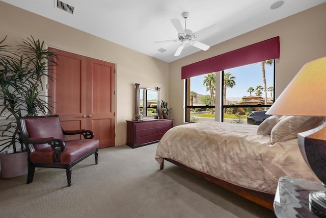
[[[18,117],[22,141],[28,151],[26,184],[33,182],[35,167],[66,169],[68,186],[71,185],[71,168],[95,154],[98,162],[98,143],[90,130],[65,131],[58,115]],[[82,134],[85,139],[67,140],[65,135]]]

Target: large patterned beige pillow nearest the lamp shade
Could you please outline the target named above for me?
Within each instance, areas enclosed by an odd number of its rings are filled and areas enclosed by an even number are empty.
[[[287,116],[280,119],[270,132],[270,143],[287,141],[297,137],[300,132],[313,129],[321,124],[320,116]]]

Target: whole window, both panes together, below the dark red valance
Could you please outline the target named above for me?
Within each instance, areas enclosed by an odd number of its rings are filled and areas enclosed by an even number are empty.
[[[222,122],[247,124],[248,114],[267,110],[274,103],[275,60],[196,76],[185,82],[185,122],[214,120],[216,110],[221,112]],[[220,96],[216,98],[216,94]]]

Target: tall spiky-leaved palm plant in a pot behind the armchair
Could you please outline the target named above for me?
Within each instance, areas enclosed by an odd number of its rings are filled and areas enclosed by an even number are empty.
[[[6,38],[0,41],[0,165],[1,177],[11,178],[28,169],[16,118],[48,113],[43,81],[48,68],[56,64],[56,55],[32,36],[16,47],[3,45]],[[7,168],[13,166],[17,169]]]

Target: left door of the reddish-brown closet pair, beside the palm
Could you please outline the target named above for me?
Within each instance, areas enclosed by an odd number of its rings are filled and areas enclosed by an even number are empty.
[[[49,96],[50,101],[55,103],[51,112],[60,116],[66,130],[87,129],[87,58],[62,50],[49,50],[58,56],[58,66],[49,70],[49,75],[53,77],[48,81]]]

